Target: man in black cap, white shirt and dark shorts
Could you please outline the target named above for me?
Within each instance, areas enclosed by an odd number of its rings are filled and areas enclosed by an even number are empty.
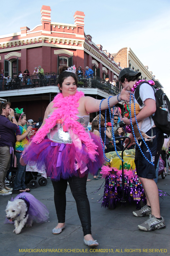
[[[138,82],[139,76],[141,76],[141,72],[134,71],[131,68],[124,68],[121,70],[118,80],[123,87],[125,87],[126,85],[129,85],[129,87],[126,90],[134,92],[136,85],[138,84],[138,83],[136,84],[136,82]],[[139,89],[139,94],[143,102],[143,105],[142,107],[140,106],[140,108],[142,109],[137,114],[136,119],[137,121],[142,120],[142,125],[141,125],[142,132],[145,132],[149,136],[156,135],[156,138],[153,139],[152,142],[150,141],[146,142],[146,144],[149,147],[149,150],[152,153],[152,157],[154,159],[154,166],[147,161],[147,159],[151,161],[151,156],[143,140],[138,140],[138,141],[139,143],[141,142],[140,147],[142,149],[142,152],[144,153],[144,156],[140,152],[138,145],[136,146],[135,165],[136,165],[137,175],[139,176],[142,186],[144,188],[147,204],[141,210],[133,212],[133,214],[137,217],[144,217],[144,216],[150,215],[147,221],[138,225],[138,229],[143,231],[153,231],[155,229],[166,228],[165,220],[163,217],[160,216],[158,187],[155,181],[153,180],[154,178],[156,178],[156,174],[155,174],[156,166],[157,166],[161,148],[163,145],[163,134],[159,130],[159,128],[155,126],[154,121],[151,117],[156,111],[156,100],[155,100],[155,94],[152,89],[152,86],[147,83],[141,84]],[[136,103],[137,103],[137,100],[136,100]],[[129,125],[130,119],[128,119],[127,117],[124,117],[123,122]],[[136,123],[136,120],[134,117],[132,118],[132,124],[135,124],[135,123]],[[130,134],[129,137],[132,143],[134,140],[134,137],[132,134]]]

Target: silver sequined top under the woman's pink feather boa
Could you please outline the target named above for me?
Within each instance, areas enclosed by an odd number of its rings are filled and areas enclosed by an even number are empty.
[[[48,116],[49,117],[49,116]],[[78,122],[85,127],[86,131],[87,125],[89,123],[90,116],[78,116]],[[64,132],[63,127],[58,127],[58,124],[55,125],[53,129],[47,134],[47,137],[49,140],[52,140],[54,142],[64,143],[64,144],[71,144],[73,141],[70,137],[69,132]]]

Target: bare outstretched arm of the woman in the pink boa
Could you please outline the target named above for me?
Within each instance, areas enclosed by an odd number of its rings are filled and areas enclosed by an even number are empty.
[[[120,94],[113,96],[109,99],[109,105],[110,106],[114,106],[115,104],[117,104],[118,102],[120,102],[121,100],[126,100],[129,101],[130,98],[130,93],[129,91],[126,91],[126,89],[128,88],[129,85],[127,85],[126,87],[124,87],[121,91]],[[118,99],[117,99],[118,98]],[[108,98],[104,99],[101,103],[101,110],[108,108],[108,102],[107,102]],[[93,112],[98,112],[99,108],[100,108],[100,101],[101,100],[96,100],[92,97],[86,96],[85,97],[85,109],[88,113],[93,113]]]

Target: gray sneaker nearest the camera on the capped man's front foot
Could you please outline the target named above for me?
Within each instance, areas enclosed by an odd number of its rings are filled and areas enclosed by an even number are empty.
[[[162,220],[158,220],[154,215],[150,215],[149,219],[141,225],[138,225],[138,229],[143,231],[154,231],[155,229],[166,228],[165,220],[161,216]]]

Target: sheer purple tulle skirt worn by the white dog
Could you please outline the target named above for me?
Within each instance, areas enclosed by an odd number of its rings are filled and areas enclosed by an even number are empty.
[[[23,199],[25,202],[26,201],[28,202],[27,205],[29,205],[29,209],[27,214],[29,214],[29,219],[35,220],[37,223],[42,223],[48,220],[49,211],[47,207],[30,193],[22,192],[18,194],[18,196],[16,196],[14,199],[11,198],[11,202],[16,199]],[[7,223],[14,223],[14,222],[10,222],[6,218],[4,223],[7,224]]]

